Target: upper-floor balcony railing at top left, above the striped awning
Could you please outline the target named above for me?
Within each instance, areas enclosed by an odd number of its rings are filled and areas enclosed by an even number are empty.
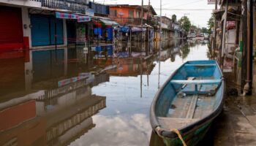
[[[72,12],[85,12],[87,1],[80,0],[32,0],[41,1],[42,7],[48,7],[52,9],[66,9]]]

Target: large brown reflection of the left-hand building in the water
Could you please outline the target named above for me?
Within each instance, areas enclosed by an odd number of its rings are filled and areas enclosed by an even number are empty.
[[[109,81],[109,75],[91,74],[76,51],[0,58],[6,66],[0,72],[0,145],[68,145],[95,126],[91,116],[106,101],[91,95],[90,86]]]

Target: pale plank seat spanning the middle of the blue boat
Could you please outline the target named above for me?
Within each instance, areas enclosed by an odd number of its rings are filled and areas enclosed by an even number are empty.
[[[219,84],[222,80],[171,80],[173,84],[187,84],[187,85],[211,85]]]

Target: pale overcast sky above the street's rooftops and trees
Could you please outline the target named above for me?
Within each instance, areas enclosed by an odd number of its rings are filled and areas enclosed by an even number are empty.
[[[100,4],[138,4],[141,0],[94,0]],[[151,0],[157,15],[160,15],[160,0]],[[143,1],[144,5],[148,5],[148,0]],[[207,27],[207,21],[211,18],[214,4],[208,4],[207,0],[162,0],[162,15],[171,18],[171,15],[177,15],[177,20],[186,15],[192,25]],[[192,10],[197,9],[197,10]]]

